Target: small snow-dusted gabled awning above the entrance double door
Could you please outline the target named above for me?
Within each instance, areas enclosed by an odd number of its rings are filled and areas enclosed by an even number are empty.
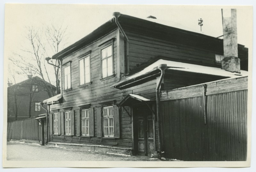
[[[155,100],[142,94],[129,94],[118,104],[118,106],[131,106],[140,102],[154,102]]]

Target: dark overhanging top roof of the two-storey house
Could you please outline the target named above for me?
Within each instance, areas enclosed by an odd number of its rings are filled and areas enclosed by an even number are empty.
[[[212,51],[219,50],[223,52],[223,40],[212,36],[179,29],[172,26],[152,22],[148,19],[136,18],[124,14],[120,15],[118,21],[120,25],[123,27],[124,31],[127,29],[135,30],[137,32],[140,32],[140,34],[145,33],[158,39],[163,39],[167,41],[172,40],[173,42],[183,45],[193,45],[195,47],[201,47]],[[84,38],[78,40],[74,44],[68,46],[67,48],[53,55],[52,58],[61,59],[101,39],[102,37],[107,35],[109,32],[112,32],[116,28],[117,25],[115,23],[115,19],[111,18],[106,23],[95,29],[93,32],[91,32]],[[238,44],[238,53],[240,53],[239,58],[244,59],[248,57],[248,54],[241,54],[241,51],[239,50],[248,52],[248,48],[245,48],[243,45]]]

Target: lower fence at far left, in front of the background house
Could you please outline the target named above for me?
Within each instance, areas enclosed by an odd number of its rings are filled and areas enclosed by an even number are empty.
[[[7,140],[36,140],[42,141],[41,125],[35,118],[8,122]]]

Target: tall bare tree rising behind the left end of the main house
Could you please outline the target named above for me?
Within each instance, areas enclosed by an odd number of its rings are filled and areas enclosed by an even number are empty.
[[[21,52],[14,53],[13,57],[9,59],[20,69],[20,73],[23,75],[40,76],[44,82],[38,84],[47,91],[48,97],[52,97],[55,94],[52,82],[56,84],[57,94],[60,93],[60,62],[59,60],[51,60],[53,65],[50,66],[45,62],[45,57],[57,53],[60,47],[64,47],[65,44],[62,42],[67,41],[67,27],[51,25],[45,30],[27,27],[26,39],[29,46],[23,47]],[[53,71],[54,75],[52,75]]]

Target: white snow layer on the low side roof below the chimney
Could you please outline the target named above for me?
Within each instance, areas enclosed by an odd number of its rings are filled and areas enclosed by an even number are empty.
[[[195,73],[200,73],[200,74],[218,75],[218,76],[224,76],[224,77],[237,77],[237,76],[247,76],[248,75],[248,72],[244,71],[244,70],[241,70],[241,73],[238,74],[238,73],[228,72],[221,68],[214,68],[214,67],[201,66],[201,65],[160,59],[160,60],[154,62],[153,64],[149,65],[148,67],[144,68],[140,72],[127,77],[126,80],[130,80],[130,79],[136,78],[138,76],[147,74],[147,73],[155,70],[160,64],[167,64],[167,69],[195,72]]]

